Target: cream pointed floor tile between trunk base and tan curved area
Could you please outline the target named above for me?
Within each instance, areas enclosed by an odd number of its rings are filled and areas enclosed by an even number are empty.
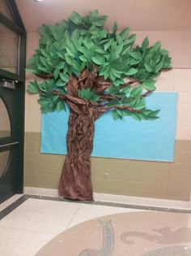
[[[79,223],[82,223],[83,221],[87,221],[89,219],[95,219],[100,216],[113,215],[113,214],[124,213],[124,212],[135,212],[135,211],[142,211],[142,210],[113,207],[113,206],[96,206],[96,205],[82,204],[79,207],[79,210],[74,215],[74,218],[72,219],[68,228],[71,228]]]

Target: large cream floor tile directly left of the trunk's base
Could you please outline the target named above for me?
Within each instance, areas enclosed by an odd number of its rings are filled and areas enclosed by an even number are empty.
[[[37,232],[63,232],[80,204],[28,199],[0,221],[2,228]],[[4,256],[4,255],[3,255]]]

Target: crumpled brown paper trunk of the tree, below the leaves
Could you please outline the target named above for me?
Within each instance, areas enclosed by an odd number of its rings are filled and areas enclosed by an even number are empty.
[[[60,196],[73,200],[93,200],[91,185],[93,137],[92,108],[82,110],[82,113],[76,113],[70,109],[67,155],[58,189]]]

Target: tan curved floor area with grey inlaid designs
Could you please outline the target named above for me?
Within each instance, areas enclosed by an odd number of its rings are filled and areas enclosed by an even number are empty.
[[[36,256],[191,256],[190,217],[157,211],[99,217],[62,232]]]

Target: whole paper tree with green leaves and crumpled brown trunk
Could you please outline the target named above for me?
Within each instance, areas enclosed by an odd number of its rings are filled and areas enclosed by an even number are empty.
[[[39,29],[39,49],[28,62],[28,72],[43,80],[31,81],[28,90],[39,93],[41,112],[70,108],[67,155],[59,184],[60,196],[93,200],[91,151],[94,123],[112,110],[113,119],[125,116],[155,120],[159,110],[146,109],[146,96],[155,90],[155,77],[170,68],[168,51],[160,42],[134,46],[129,28],[104,28],[107,16],[92,11],[73,12],[61,24]],[[128,136],[128,135],[127,135]],[[63,142],[64,143],[64,142]]]

